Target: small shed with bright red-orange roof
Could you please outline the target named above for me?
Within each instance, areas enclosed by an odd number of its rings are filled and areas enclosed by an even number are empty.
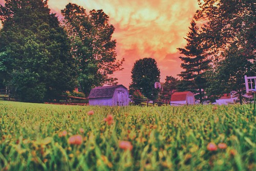
[[[170,97],[170,105],[195,105],[195,96],[190,91],[175,92]]]

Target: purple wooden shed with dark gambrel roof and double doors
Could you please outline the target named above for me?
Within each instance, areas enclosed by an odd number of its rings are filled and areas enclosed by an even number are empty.
[[[89,94],[89,105],[128,106],[129,92],[123,85],[96,87]]]

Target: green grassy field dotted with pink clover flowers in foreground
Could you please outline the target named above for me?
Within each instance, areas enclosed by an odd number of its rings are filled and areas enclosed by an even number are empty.
[[[250,105],[0,101],[0,170],[255,170]]]

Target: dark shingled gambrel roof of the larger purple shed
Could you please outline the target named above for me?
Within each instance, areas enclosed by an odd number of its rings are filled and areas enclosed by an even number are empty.
[[[113,85],[113,86],[103,86],[103,87],[95,87],[91,90],[89,94],[89,99],[98,99],[98,98],[108,98],[114,95],[115,89],[118,87],[124,87],[123,85]]]

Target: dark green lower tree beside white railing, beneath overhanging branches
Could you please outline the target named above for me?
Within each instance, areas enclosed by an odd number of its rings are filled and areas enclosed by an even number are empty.
[[[222,93],[237,91],[242,104],[242,95],[245,92],[244,76],[255,75],[255,63],[241,55],[235,44],[221,55],[224,59],[216,63],[214,74],[211,72],[211,86],[207,89],[207,93],[219,96]]]

